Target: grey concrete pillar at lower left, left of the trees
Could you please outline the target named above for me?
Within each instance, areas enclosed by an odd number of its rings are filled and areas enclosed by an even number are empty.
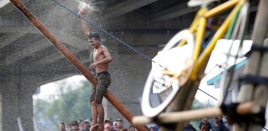
[[[19,78],[19,77],[18,77]],[[33,88],[23,86],[20,80],[13,78],[0,87],[0,115],[2,130],[19,131],[17,118],[21,119],[24,131],[33,131]]]

